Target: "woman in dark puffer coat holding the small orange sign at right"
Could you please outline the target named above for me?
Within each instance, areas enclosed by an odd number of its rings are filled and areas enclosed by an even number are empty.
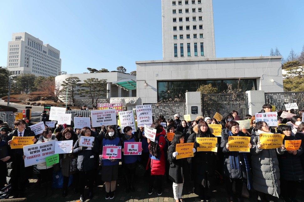
[[[288,125],[279,125],[277,133],[284,134],[283,144],[286,140],[296,140],[296,137],[291,135],[291,128]],[[296,182],[304,180],[304,172],[301,165],[300,156],[303,154],[303,149],[300,146],[298,150],[286,150],[284,154],[278,155],[280,167],[280,188],[281,197],[285,201],[296,201],[297,184]]]

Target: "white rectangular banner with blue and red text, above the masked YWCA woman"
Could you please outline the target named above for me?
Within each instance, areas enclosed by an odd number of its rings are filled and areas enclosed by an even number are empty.
[[[92,127],[116,125],[115,109],[92,110]]]

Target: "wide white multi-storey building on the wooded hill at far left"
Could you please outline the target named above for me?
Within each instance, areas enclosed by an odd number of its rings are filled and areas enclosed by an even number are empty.
[[[7,67],[13,75],[57,76],[61,71],[60,51],[26,32],[13,33],[8,42]]]

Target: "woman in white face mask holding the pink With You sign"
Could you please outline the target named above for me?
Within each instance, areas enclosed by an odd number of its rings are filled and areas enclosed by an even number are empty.
[[[121,146],[121,141],[117,137],[118,135],[114,131],[112,126],[107,127],[107,132],[100,148],[100,154],[102,155],[103,146]],[[99,155],[100,156],[100,155]],[[116,180],[118,179],[118,164],[117,159],[102,159],[102,181],[105,182],[106,187],[106,199],[114,199],[116,190]]]

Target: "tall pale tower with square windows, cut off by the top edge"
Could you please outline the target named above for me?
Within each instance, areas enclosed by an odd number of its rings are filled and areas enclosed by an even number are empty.
[[[215,58],[212,0],[162,0],[163,59]]]

